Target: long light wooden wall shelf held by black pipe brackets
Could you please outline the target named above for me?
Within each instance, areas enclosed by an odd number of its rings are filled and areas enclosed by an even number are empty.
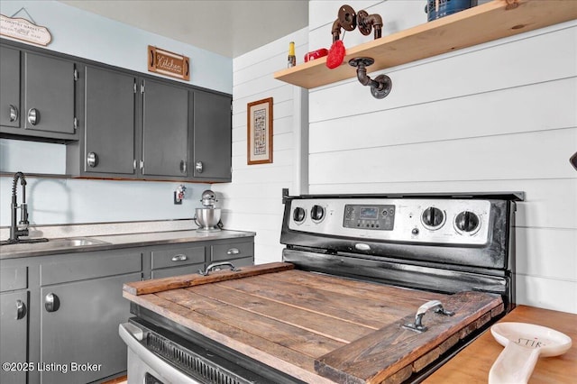
[[[274,78],[308,89],[321,87],[355,78],[356,69],[348,61],[356,57],[375,59],[368,67],[369,72],[374,72],[574,19],[577,19],[575,0],[493,0],[347,48],[343,64],[336,69],[326,68],[326,58],[321,58],[279,70]],[[330,38],[330,31],[326,34]]]

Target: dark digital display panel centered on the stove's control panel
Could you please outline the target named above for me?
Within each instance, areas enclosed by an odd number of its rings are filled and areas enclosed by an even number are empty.
[[[344,228],[392,231],[394,224],[394,205],[363,206],[347,204],[344,206]]]

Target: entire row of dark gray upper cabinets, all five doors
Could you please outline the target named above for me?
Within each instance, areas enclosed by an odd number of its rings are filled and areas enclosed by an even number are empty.
[[[5,40],[0,77],[0,138],[65,143],[66,176],[231,180],[230,95]]]

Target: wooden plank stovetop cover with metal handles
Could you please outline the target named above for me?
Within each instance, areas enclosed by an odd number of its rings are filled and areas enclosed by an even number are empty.
[[[277,262],[138,281],[124,297],[309,383],[400,382],[503,311],[501,298],[343,279]],[[454,315],[417,308],[440,300]]]

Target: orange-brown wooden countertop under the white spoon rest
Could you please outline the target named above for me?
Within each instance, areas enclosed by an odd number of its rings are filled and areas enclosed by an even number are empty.
[[[517,306],[500,322],[543,325],[567,334],[572,348],[561,356],[540,358],[529,383],[570,383],[577,378],[577,315],[532,306]],[[503,351],[490,331],[458,353],[433,375],[426,384],[486,383],[493,362]]]

